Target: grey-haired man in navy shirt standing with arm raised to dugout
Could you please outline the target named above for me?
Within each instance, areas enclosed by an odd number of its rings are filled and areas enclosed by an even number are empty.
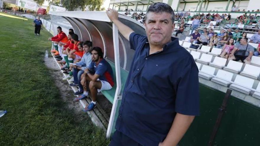
[[[177,145],[199,114],[199,79],[191,54],[171,37],[173,9],[148,8],[147,37],[121,23],[116,10],[106,13],[135,50],[110,145]]]

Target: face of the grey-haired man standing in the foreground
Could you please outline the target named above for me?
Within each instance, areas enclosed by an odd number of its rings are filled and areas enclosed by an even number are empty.
[[[149,12],[144,26],[149,43],[163,46],[170,42],[175,24],[172,22],[170,13]]]

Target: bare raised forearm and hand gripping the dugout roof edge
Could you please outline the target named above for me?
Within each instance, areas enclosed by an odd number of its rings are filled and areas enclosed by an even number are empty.
[[[133,29],[131,29],[130,27],[126,26],[125,24],[123,24],[122,22],[120,22],[118,20],[118,12],[114,9],[109,9],[106,10],[106,13],[108,15],[108,18],[114,23],[116,24],[119,32],[127,39],[129,40],[129,36],[132,32],[134,32]]]

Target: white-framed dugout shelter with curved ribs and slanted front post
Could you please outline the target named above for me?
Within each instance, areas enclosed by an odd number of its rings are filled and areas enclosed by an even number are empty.
[[[50,14],[52,23],[59,22],[61,24],[60,22],[64,22],[64,24],[67,24],[69,22],[74,32],[79,35],[80,40],[92,41],[93,47],[98,46],[102,48],[106,60],[115,63],[116,91],[106,133],[106,137],[109,138],[115,130],[117,112],[121,103],[119,101],[122,99],[122,84],[124,83],[121,81],[121,70],[130,70],[134,50],[130,49],[129,41],[118,32],[116,25],[111,22],[105,12],[73,11],[50,12]],[[145,27],[140,22],[121,14],[119,14],[118,19],[135,32],[146,35]],[[56,29],[55,27],[53,25],[54,30]]]

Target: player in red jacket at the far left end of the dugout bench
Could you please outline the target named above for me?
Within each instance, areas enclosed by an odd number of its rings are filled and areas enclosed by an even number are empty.
[[[57,27],[58,34],[54,37],[49,37],[49,40],[53,42],[53,46],[55,50],[52,50],[51,52],[54,53],[54,55],[62,55],[61,46],[64,44],[67,44],[69,42],[67,35],[61,30],[61,27]]]

